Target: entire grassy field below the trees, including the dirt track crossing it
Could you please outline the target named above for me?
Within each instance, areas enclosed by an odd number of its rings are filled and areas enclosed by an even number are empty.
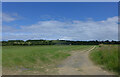
[[[89,54],[90,53],[90,54]],[[93,63],[90,59],[93,60]],[[3,46],[4,75],[113,75],[117,45]],[[92,70],[92,71],[91,71]]]

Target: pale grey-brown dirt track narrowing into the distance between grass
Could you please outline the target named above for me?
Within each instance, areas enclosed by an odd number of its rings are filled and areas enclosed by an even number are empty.
[[[74,51],[58,66],[59,75],[112,75],[94,65],[89,59],[89,52],[94,48],[95,46],[86,51]]]

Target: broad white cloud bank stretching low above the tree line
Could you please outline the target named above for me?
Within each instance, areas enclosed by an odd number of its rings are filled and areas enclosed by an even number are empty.
[[[118,17],[102,21],[39,21],[15,29],[3,26],[3,39],[118,40]]]

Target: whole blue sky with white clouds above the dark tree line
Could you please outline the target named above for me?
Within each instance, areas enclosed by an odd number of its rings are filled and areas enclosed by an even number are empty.
[[[2,40],[118,40],[117,2],[3,2]]]

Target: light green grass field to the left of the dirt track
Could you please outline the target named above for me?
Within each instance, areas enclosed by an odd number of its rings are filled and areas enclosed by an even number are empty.
[[[44,74],[49,69],[52,72],[57,64],[70,56],[70,51],[90,47],[90,45],[3,46],[3,73],[22,70]]]

